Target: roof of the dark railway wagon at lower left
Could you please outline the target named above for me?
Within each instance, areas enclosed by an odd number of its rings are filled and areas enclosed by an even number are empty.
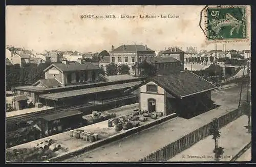
[[[80,115],[80,114],[83,114],[83,113],[80,111],[77,111],[77,110],[72,110],[72,111],[59,112],[59,113],[55,113],[55,114],[49,114],[42,118],[46,121],[54,121],[54,120],[58,120],[60,118],[65,118],[65,117]]]

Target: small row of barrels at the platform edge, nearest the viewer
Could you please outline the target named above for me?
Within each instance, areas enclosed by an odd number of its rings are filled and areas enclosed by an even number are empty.
[[[92,133],[92,132],[84,131],[80,129],[71,130],[70,137],[75,137],[77,139],[80,138],[80,139],[83,139],[84,141],[90,141],[90,142],[94,142],[99,139],[97,133]]]

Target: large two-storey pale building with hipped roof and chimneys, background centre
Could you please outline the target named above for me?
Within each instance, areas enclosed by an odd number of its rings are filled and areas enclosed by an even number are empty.
[[[117,65],[128,65],[130,68],[130,75],[138,77],[140,75],[138,65],[143,61],[154,63],[155,56],[155,51],[148,48],[147,45],[122,44],[116,49],[114,49],[114,46],[112,45],[112,51],[110,51],[110,62],[116,63]]]

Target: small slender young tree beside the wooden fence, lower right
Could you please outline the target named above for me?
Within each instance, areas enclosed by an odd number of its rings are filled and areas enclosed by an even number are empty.
[[[215,158],[218,160],[219,156],[222,155],[223,152],[223,148],[218,148],[218,138],[221,136],[220,135],[220,131],[219,131],[219,126],[218,126],[218,120],[217,118],[214,118],[214,120],[212,120],[212,122],[210,123],[210,135],[212,135],[212,139],[214,139],[215,142],[215,149],[214,149],[214,153],[215,153]]]

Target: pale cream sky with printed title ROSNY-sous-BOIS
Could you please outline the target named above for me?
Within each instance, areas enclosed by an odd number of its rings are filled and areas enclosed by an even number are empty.
[[[7,6],[6,45],[34,50],[100,52],[111,46],[143,44],[159,51],[168,47],[214,50],[199,27],[204,6]],[[248,12],[250,12],[248,10]],[[157,18],[120,18],[156,15]],[[161,18],[161,15],[178,18]],[[246,13],[250,16],[250,13]],[[81,19],[81,15],[116,18]],[[117,17],[119,16],[119,17]],[[160,16],[160,17],[158,17]],[[250,20],[250,19],[247,19]],[[248,22],[250,25],[250,22]],[[202,26],[203,23],[202,23]],[[248,27],[250,36],[250,27]],[[249,42],[228,42],[226,50],[248,50]],[[223,43],[218,43],[218,49]]]

